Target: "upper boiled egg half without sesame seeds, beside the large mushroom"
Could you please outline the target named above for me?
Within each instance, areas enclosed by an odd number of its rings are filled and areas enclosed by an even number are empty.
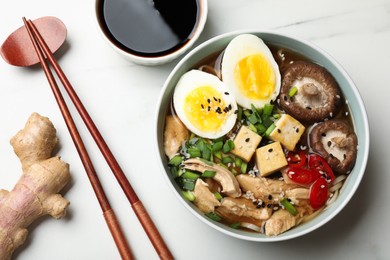
[[[222,58],[222,80],[244,108],[263,107],[280,91],[278,64],[263,40],[241,34],[230,41]]]

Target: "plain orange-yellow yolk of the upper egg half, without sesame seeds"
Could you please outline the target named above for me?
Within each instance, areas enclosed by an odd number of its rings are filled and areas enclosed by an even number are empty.
[[[240,60],[234,70],[239,91],[253,100],[267,99],[275,88],[272,65],[262,54],[254,54]]]

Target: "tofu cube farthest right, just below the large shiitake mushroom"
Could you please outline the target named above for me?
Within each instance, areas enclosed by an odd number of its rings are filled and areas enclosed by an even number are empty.
[[[293,151],[305,132],[305,127],[298,120],[287,114],[283,114],[275,123],[275,126],[275,129],[269,135],[269,139],[274,142],[280,142],[287,150]]]

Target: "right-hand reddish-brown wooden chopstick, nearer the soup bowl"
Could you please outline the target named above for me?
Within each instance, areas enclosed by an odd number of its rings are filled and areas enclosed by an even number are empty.
[[[152,219],[150,218],[148,212],[146,211],[145,207],[143,206],[143,203],[139,200],[137,194],[135,193],[134,189],[130,185],[130,182],[126,178],[124,172],[122,171],[121,167],[119,166],[117,160],[115,159],[114,155],[112,154],[111,150],[109,149],[107,143],[105,142],[104,138],[100,134],[99,130],[97,129],[96,125],[94,124],[93,120],[89,116],[87,110],[83,106],[81,100],[77,96],[75,90],[73,89],[72,85],[70,84],[69,80],[65,76],[64,72],[62,71],[61,67],[58,65],[56,59],[54,58],[53,54],[51,53],[49,47],[45,43],[44,39],[38,32],[37,28],[34,26],[33,22],[31,20],[27,21],[28,27],[31,29],[32,33],[36,37],[36,40],[39,42],[40,47],[42,48],[43,52],[46,55],[46,58],[48,59],[49,63],[54,68],[56,74],[58,75],[60,81],[62,82],[65,90],[67,91],[71,101],[75,105],[77,111],[79,112],[81,118],[83,119],[85,125],[87,126],[89,132],[91,133],[93,139],[95,140],[96,144],[98,145],[101,153],[103,154],[104,158],[106,159],[108,165],[110,166],[112,172],[114,173],[117,181],[119,182],[122,190],[124,191],[127,199],[129,200],[137,218],[139,219],[142,227],[144,228],[146,234],[148,235],[151,243],[153,244],[157,254],[160,256],[161,259],[173,259],[173,256],[171,252],[169,251],[169,248],[165,244],[163,238],[161,237],[160,233],[158,232],[156,226],[154,225]]]

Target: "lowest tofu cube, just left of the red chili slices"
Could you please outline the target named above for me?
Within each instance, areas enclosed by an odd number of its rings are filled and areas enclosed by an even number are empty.
[[[286,156],[280,142],[273,142],[256,150],[256,166],[261,176],[268,176],[286,165]]]

